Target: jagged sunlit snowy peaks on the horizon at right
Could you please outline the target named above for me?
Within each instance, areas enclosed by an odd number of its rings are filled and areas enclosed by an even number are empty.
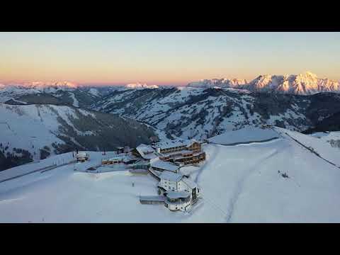
[[[211,79],[189,83],[188,86],[195,88],[233,88],[246,89],[256,92],[283,93],[310,95],[320,92],[340,93],[339,81],[331,79],[319,79],[316,74],[305,72],[292,75],[264,74],[252,81],[242,79]]]

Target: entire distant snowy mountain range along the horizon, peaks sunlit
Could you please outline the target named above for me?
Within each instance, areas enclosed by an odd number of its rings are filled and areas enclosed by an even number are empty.
[[[297,95],[312,95],[320,92],[340,92],[340,82],[331,79],[319,79],[316,74],[312,72],[305,72],[302,74],[290,75],[271,75],[264,74],[248,81],[246,79],[203,79],[200,81],[193,81],[187,85],[196,89],[208,88],[232,88],[245,89],[253,92],[266,93],[280,93],[280,94],[297,94]],[[158,86],[148,84],[126,84],[122,86],[81,86],[69,81],[52,81],[42,82],[34,81],[23,84],[0,84],[0,90],[8,89],[29,89],[34,93],[39,92],[53,92],[58,90],[74,90],[86,88],[94,96],[108,94],[112,91],[122,91],[126,89],[160,89],[169,88],[169,86]]]

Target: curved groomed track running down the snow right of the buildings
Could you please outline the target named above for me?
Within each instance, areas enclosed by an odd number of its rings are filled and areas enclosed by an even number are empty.
[[[287,146],[289,147],[289,146]],[[287,148],[285,147],[285,148]],[[285,149],[283,148],[283,149]],[[274,157],[275,155],[279,154],[280,152],[283,152],[283,149],[276,149],[274,152],[271,152],[268,156],[260,159],[258,162],[256,162],[247,172],[242,176],[242,178],[237,182],[236,190],[234,191],[234,194],[232,195],[232,198],[230,199],[229,208],[228,208],[228,214],[226,218],[226,222],[229,223],[232,220],[232,215],[234,212],[235,205],[237,203],[237,200],[239,198],[239,195],[242,193],[243,189],[243,183],[246,181],[246,179],[256,170],[259,168],[259,164],[261,162],[266,161],[267,159],[270,159],[271,157]]]

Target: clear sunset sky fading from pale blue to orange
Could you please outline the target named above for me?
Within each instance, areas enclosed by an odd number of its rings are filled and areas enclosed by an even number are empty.
[[[0,82],[186,85],[299,74],[340,80],[340,33],[0,33]]]

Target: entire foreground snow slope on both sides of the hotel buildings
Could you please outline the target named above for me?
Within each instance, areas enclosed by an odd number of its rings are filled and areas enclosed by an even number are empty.
[[[83,173],[71,164],[0,183],[0,222],[340,222],[340,169],[290,137],[203,149],[204,164],[181,169],[203,191],[190,213],[140,204],[138,196],[157,194],[152,176]],[[101,154],[90,157],[76,168],[98,164]]]

